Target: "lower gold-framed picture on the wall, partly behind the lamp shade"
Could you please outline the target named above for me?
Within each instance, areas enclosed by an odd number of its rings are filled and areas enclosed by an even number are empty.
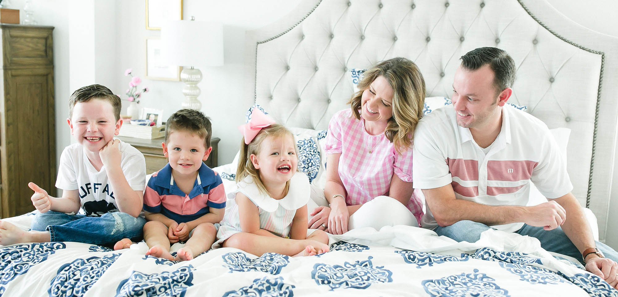
[[[146,79],[180,81],[180,66],[166,65],[161,59],[161,40],[146,39]]]

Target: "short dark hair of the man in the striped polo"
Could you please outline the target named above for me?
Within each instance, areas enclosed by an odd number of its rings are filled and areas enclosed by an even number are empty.
[[[494,87],[496,87],[497,94],[505,88],[513,87],[517,67],[506,51],[491,47],[476,48],[464,54],[461,60],[462,67],[469,71],[489,65],[494,71]]]

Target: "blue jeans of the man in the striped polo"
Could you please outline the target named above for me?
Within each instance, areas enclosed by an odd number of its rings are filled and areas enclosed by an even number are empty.
[[[483,231],[489,230],[491,227],[483,224],[476,223],[468,220],[459,221],[451,226],[436,227],[433,231],[438,235],[444,235],[449,238],[455,239],[455,241],[468,241],[468,243],[474,243],[481,238]],[[564,234],[562,228],[558,227],[554,230],[546,231],[543,227],[533,227],[527,224],[523,224],[520,230],[515,231],[520,235],[528,235],[539,239],[541,242],[541,248],[550,252],[557,252],[559,254],[574,257],[583,264],[582,254],[570,241],[567,235]],[[596,241],[596,248],[601,250],[605,257],[618,262],[618,252],[610,248],[604,243]]]

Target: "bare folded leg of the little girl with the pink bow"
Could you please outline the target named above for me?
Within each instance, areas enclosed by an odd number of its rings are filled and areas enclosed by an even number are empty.
[[[224,247],[242,249],[256,256],[265,252],[277,252],[287,256],[311,256],[328,252],[328,244],[313,239],[287,239],[279,236],[236,233],[223,242]]]

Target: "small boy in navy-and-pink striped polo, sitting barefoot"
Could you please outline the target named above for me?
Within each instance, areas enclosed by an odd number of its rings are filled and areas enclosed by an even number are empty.
[[[179,110],[167,119],[163,154],[169,163],[153,173],[144,193],[146,255],[191,260],[214,243],[226,194],[219,174],[203,162],[213,149],[210,138],[210,119],[200,111]],[[174,258],[169,247],[179,241],[187,243]]]

